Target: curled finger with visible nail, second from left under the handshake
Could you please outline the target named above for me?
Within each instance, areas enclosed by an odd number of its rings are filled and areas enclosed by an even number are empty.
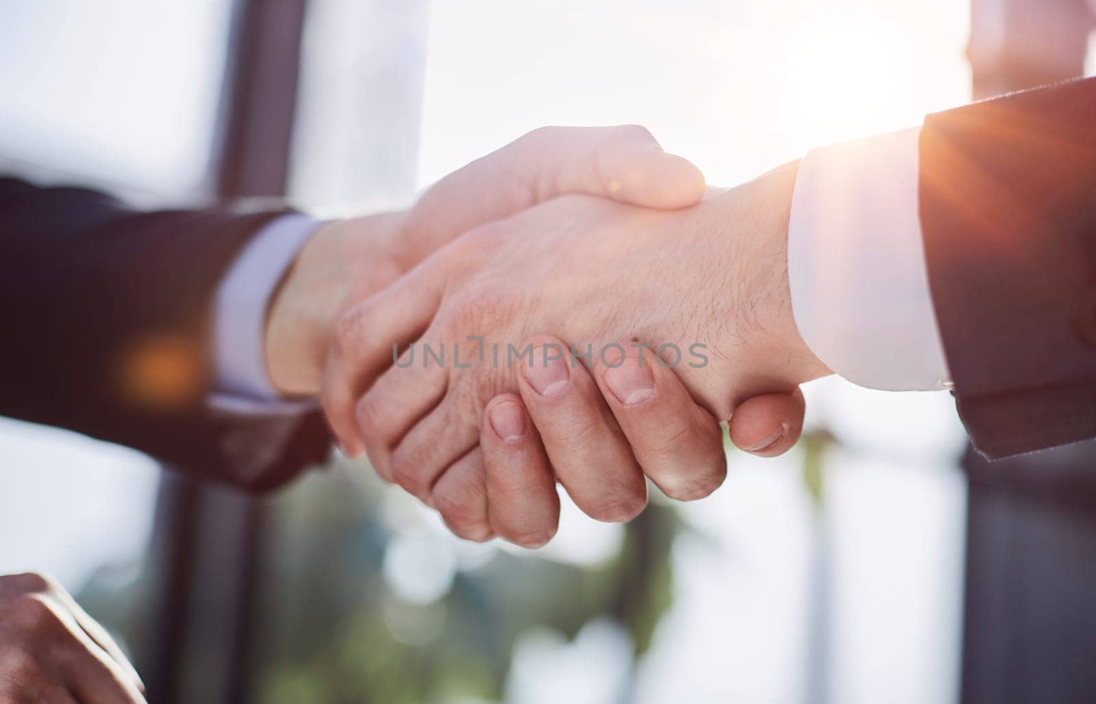
[[[647,484],[586,367],[571,363],[558,338],[535,337],[526,345],[533,355],[521,364],[517,385],[556,476],[591,518],[633,519],[647,504]]]

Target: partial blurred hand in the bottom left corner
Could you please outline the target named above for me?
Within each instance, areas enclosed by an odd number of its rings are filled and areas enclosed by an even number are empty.
[[[145,685],[106,631],[57,583],[0,577],[0,702],[144,702]]]

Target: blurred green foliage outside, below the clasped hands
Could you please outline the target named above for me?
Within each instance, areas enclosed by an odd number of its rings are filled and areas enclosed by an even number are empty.
[[[671,506],[652,502],[602,564],[493,549],[486,559],[458,561],[439,599],[413,603],[384,575],[385,553],[404,526],[392,527],[397,490],[372,475],[346,464],[269,500],[250,658],[259,702],[502,701],[524,634],[550,628],[573,638],[595,618],[626,629],[633,663],[650,647],[672,597],[680,522]],[[141,618],[152,613],[148,600],[163,557],[149,556],[124,589],[104,571],[79,594],[135,651],[157,637],[157,624]],[[201,649],[187,662],[195,677],[199,656]]]

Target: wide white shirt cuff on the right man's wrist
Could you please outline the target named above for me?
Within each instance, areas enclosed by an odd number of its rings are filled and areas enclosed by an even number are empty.
[[[814,149],[796,178],[788,280],[823,364],[868,388],[947,387],[917,215],[920,128]]]

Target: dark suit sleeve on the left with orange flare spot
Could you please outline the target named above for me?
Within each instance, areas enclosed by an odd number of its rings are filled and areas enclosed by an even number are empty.
[[[129,445],[262,490],[322,457],[316,416],[207,409],[217,285],[279,211],[138,213],[0,179],[0,415]]]

